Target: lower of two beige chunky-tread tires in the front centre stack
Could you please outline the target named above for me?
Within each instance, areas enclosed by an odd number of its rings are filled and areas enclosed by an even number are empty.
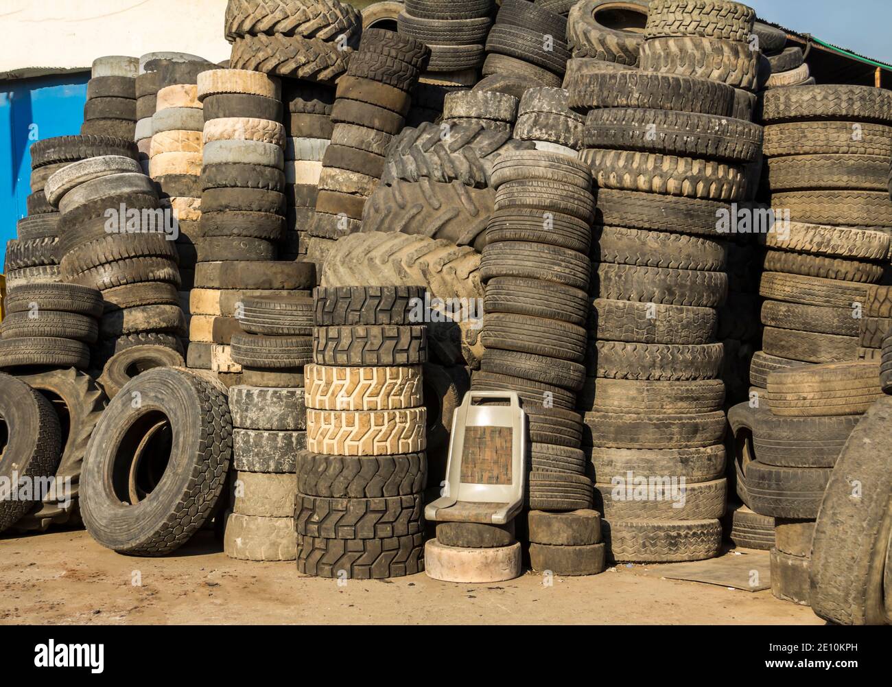
[[[427,411],[307,410],[307,449],[329,456],[390,456],[427,447]]]

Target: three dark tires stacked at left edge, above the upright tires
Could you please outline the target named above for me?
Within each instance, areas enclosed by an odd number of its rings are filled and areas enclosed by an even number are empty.
[[[70,284],[19,286],[0,324],[0,367],[87,369],[103,313],[99,292]]]

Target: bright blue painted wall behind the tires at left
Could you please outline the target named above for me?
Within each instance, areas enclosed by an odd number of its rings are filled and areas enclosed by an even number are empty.
[[[15,223],[28,214],[30,146],[41,138],[80,133],[88,71],[0,81],[0,265]],[[0,268],[4,271],[4,268]]]

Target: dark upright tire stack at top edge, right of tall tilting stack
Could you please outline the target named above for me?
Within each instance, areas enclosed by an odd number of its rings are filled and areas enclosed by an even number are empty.
[[[470,86],[483,64],[483,45],[492,25],[493,0],[408,0],[397,18],[403,36],[431,49],[429,76],[442,83]],[[471,83],[467,80],[471,79]]]

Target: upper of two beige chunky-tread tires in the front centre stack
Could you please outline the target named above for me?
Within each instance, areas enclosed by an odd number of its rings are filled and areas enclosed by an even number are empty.
[[[422,368],[305,368],[307,408],[404,410],[424,405]]]

